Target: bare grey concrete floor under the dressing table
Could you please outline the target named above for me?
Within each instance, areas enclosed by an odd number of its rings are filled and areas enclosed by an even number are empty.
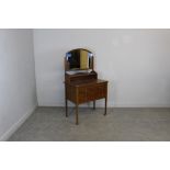
[[[170,109],[37,107],[10,141],[170,141]]]

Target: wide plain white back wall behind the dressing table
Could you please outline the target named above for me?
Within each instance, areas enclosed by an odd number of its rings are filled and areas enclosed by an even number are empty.
[[[169,45],[170,30],[34,30],[38,104],[64,105],[65,54],[84,47],[109,80],[109,106],[170,106]]]

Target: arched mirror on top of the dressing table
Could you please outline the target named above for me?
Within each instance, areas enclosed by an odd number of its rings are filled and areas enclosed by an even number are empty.
[[[72,49],[66,54],[66,70],[93,69],[93,54],[83,48]]]

